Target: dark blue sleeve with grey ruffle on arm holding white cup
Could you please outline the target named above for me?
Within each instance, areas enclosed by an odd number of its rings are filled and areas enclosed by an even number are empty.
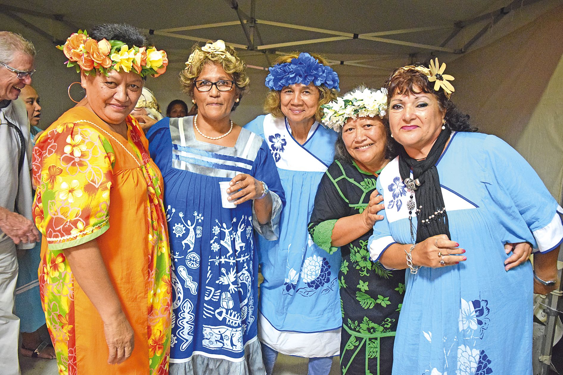
[[[256,155],[256,159],[254,159],[251,175],[257,180],[266,183],[272,197],[272,218],[270,222],[266,224],[260,224],[258,219],[256,219],[254,201],[252,202],[252,225],[254,229],[256,229],[256,232],[266,238],[266,240],[278,240],[280,216],[285,206],[285,193],[278,174],[278,168],[274,162],[274,157],[272,157],[270,151],[268,151],[266,142],[263,140]]]

